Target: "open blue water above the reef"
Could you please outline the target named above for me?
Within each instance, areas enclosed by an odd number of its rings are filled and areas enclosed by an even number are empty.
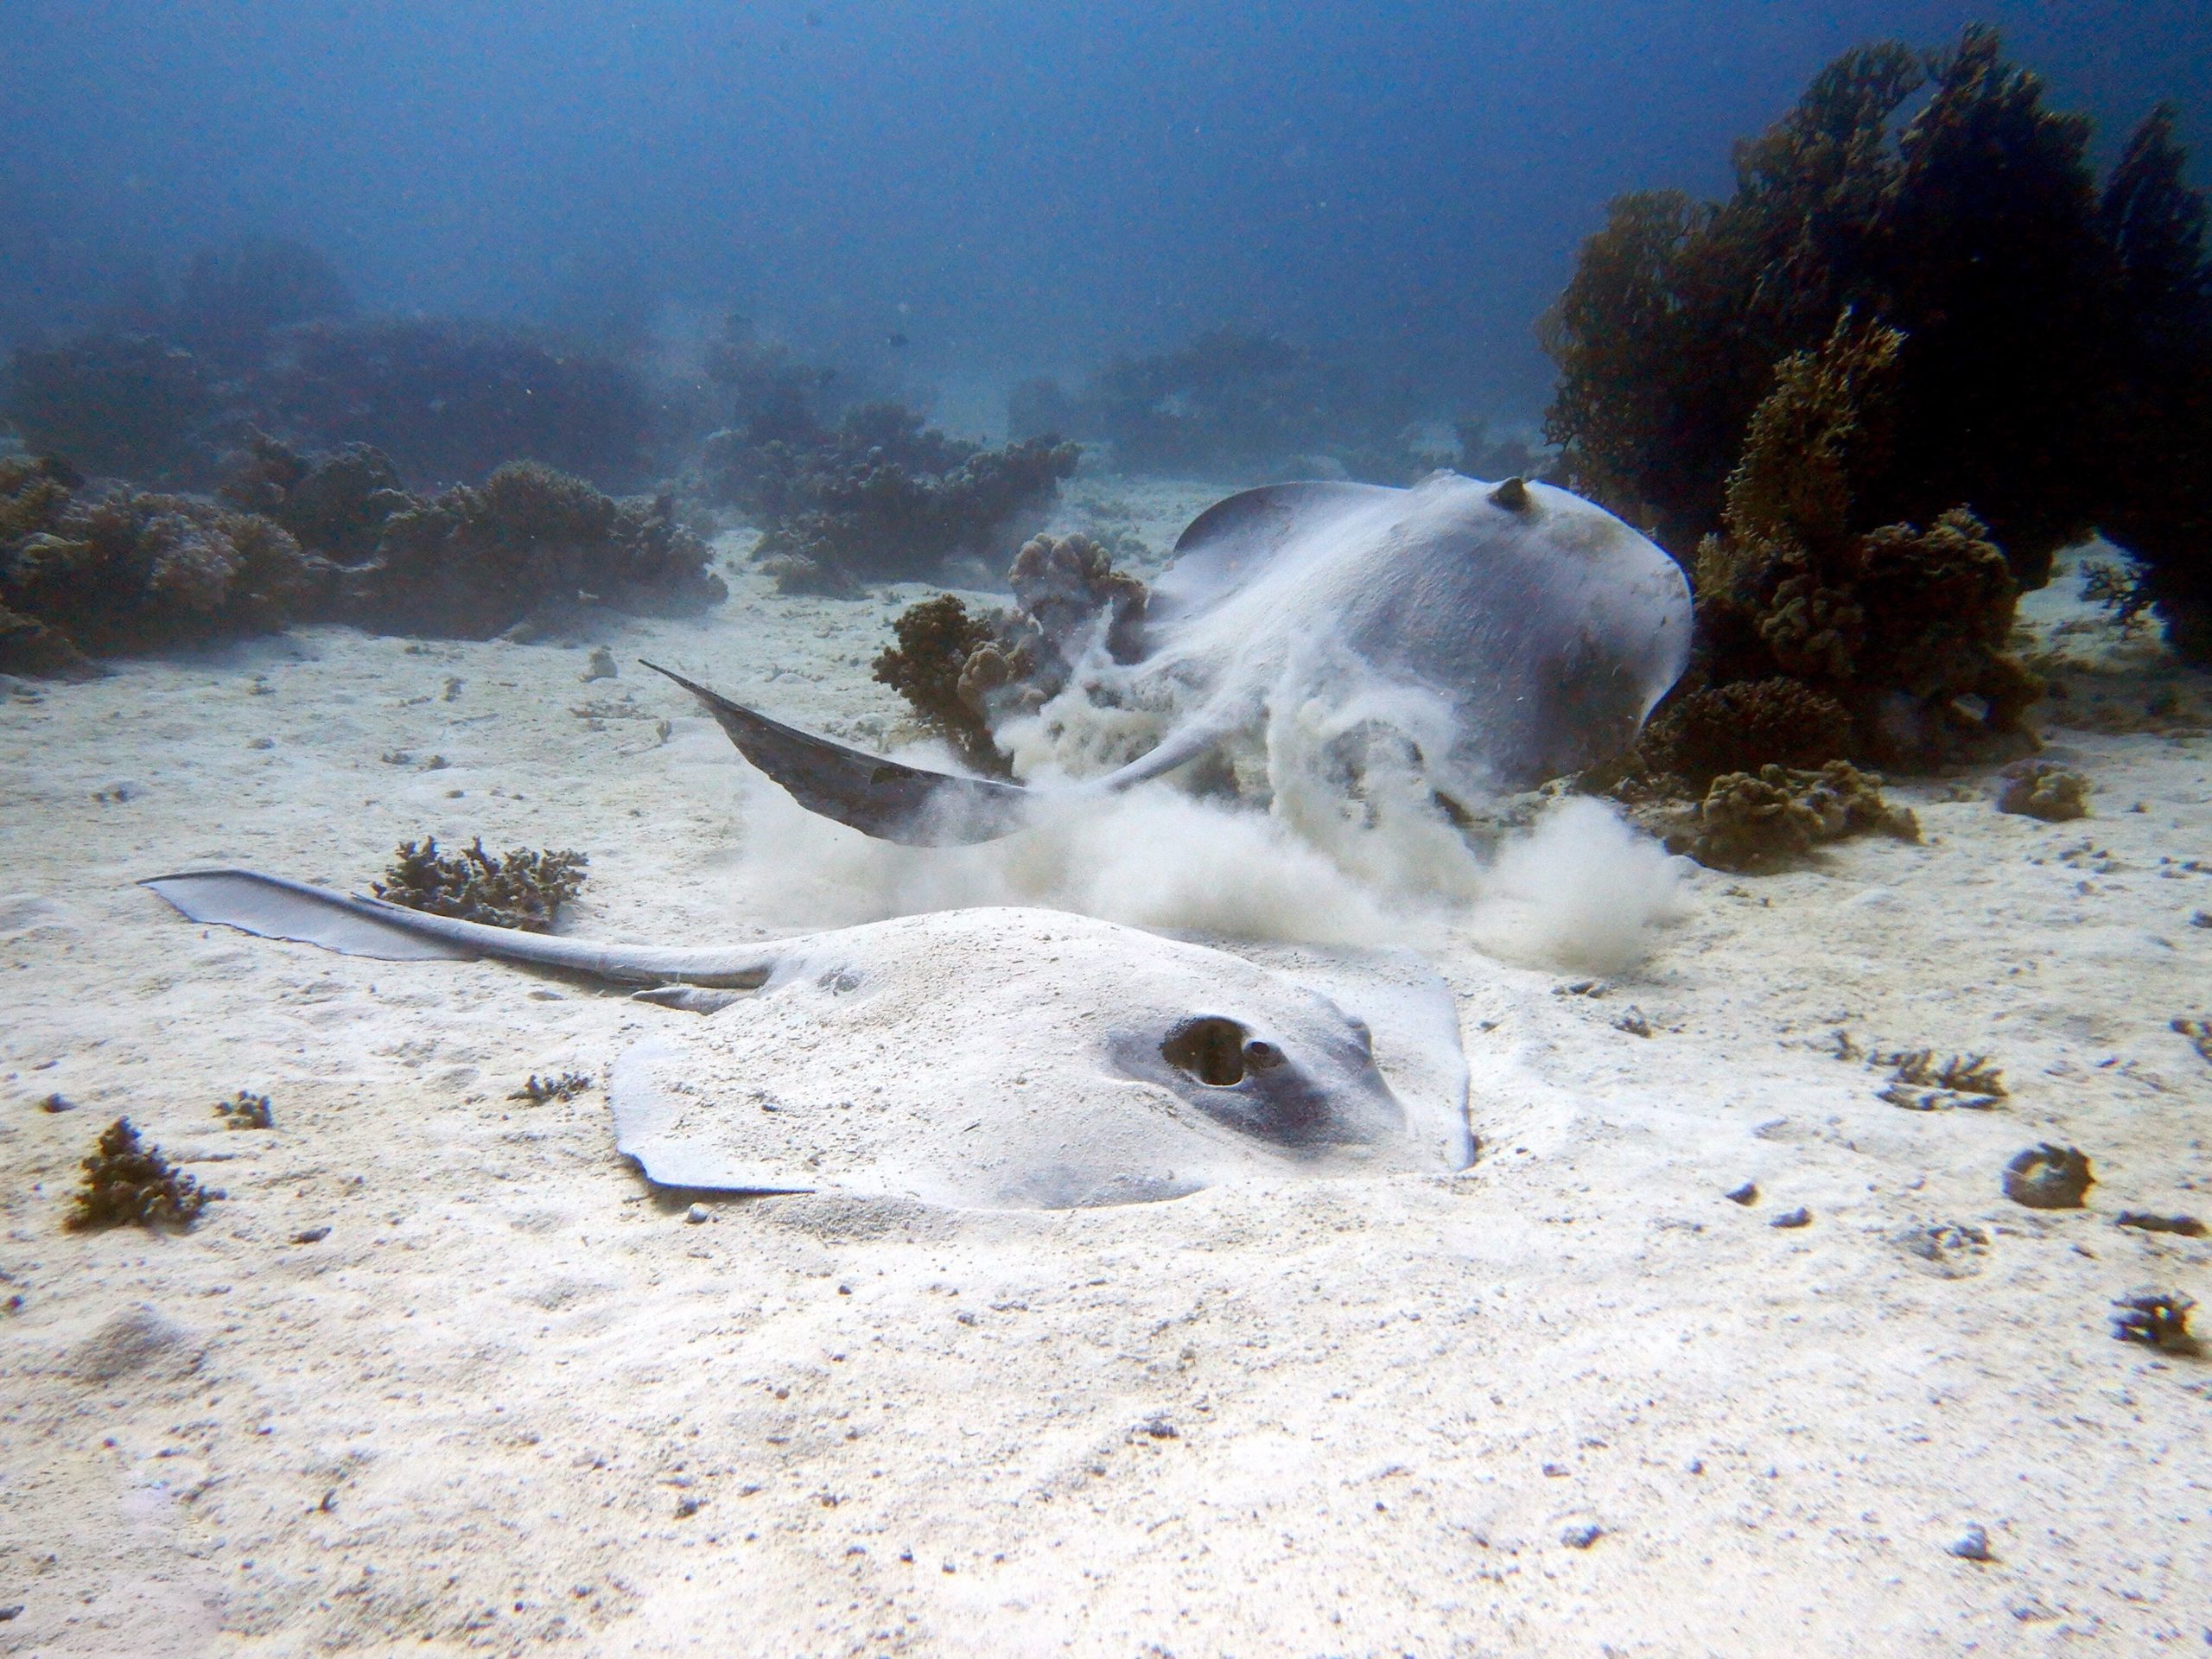
[[[0,341],[285,234],[376,310],[737,307],[911,385],[1243,321],[1533,414],[1610,195],[1721,192],[1836,51],[1971,18],[2106,153],[2157,97],[2212,144],[2203,0],[18,0]]]

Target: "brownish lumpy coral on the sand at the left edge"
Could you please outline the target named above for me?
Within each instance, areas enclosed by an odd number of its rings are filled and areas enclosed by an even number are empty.
[[[73,484],[55,462],[0,460],[0,670],[279,628],[316,591],[316,564],[265,518]]]

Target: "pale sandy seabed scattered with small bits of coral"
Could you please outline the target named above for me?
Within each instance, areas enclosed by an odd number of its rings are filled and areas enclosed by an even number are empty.
[[[1155,544],[1203,500],[1119,495]],[[0,701],[0,1650],[2212,1641],[2212,1360],[2106,1323],[2146,1283],[2212,1305],[2212,1243],[2115,1225],[2212,1219],[2212,1064],[2170,1029],[2212,1015],[2201,677],[2059,584],[2026,626],[2093,818],[1907,785],[1924,845],[1694,872],[1604,980],[1447,929],[1458,1177],[692,1223],[599,1093],[509,1097],[692,1015],[199,929],[135,885],[358,887],[400,838],[482,834],[591,854],[566,931],[794,931],[792,814],[633,659],[876,741],[867,664],[920,591],[732,588],[611,622],[591,684],[577,646],[321,628]],[[2011,1093],[1900,1110],[1838,1031],[1989,1053]],[[221,1128],[239,1088],[272,1130]],[[223,1188],[190,1232],[62,1230],[124,1113]],[[2086,1210],[2000,1194],[2044,1139],[2095,1161]],[[1969,1526],[1991,1559],[1951,1553]]]

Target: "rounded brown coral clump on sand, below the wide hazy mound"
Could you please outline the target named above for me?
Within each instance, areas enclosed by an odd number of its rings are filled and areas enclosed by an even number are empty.
[[[403,633],[487,639],[529,617],[608,604],[695,611],[728,595],[672,502],[615,500],[533,460],[416,500],[347,575],[347,608]]]

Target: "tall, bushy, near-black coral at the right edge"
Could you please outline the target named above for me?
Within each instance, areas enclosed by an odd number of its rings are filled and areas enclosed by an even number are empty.
[[[2168,571],[2174,633],[2208,586],[2203,201],[2170,113],[2137,131],[2101,195],[2088,137],[1989,29],[1933,60],[1843,55],[1739,144],[1728,201],[1621,197],[1584,243],[1542,325],[1564,471],[1688,553],[1721,526],[1776,365],[1856,316],[1896,341],[1851,529],[1966,509],[2037,586],[2055,549],[2101,524]]]

